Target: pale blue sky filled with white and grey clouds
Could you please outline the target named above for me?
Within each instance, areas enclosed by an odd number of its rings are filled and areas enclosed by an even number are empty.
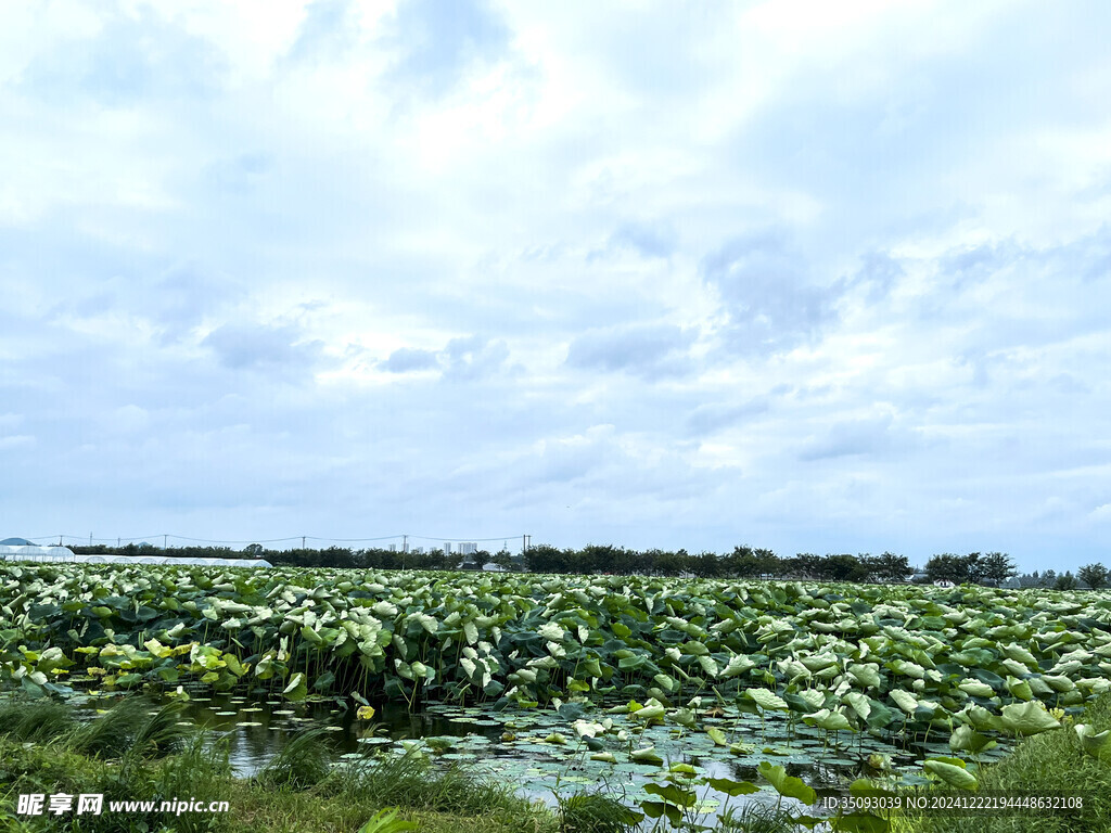
[[[0,538],[1109,563],[1109,31],[7,3]]]

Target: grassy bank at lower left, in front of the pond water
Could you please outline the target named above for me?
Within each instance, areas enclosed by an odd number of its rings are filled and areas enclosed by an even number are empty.
[[[58,703],[0,707],[0,829],[80,833],[354,833],[378,811],[430,833],[556,833],[552,812],[510,786],[414,756],[333,767],[319,735],[306,733],[251,780],[237,779],[223,745],[179,721],[124,702],[90,722]],[[18,813],[20,794],[42,794],[41,815]],[[50,795],[102,794],[100,815],[49,812]],[[112,801],[226,801],[226,813],[116,812]],[[389,831],[383,831],[389,833]]]

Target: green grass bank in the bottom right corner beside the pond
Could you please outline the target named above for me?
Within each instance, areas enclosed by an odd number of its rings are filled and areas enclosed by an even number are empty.
[[[979,773],[980,792],[1013,795],[1082,795],[1083,814],[999,813],[992,816],[953,817],[902,815],[892,821],[894,833],[1088,833],[1111,831],[1111,759],[1097,759],[1081,747],[1073,725],[1087,723],[1111,729],[1111,696],[1088,706],[1083,717],[1065,721],[1063,729],[1028,737],[999,763]],[[948,791],[952,792],[952,791]],[[941,794],[945,794],[939,791]],[[968,795],[969,793],[964,793]]]

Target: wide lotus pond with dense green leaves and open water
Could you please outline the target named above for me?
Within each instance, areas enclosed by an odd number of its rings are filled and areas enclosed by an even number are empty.
[[[978,762],[1111,689],[1095,593],[87,564],[0,579],[7,686],[188,697],[244,771],[322,725],[340,760],[420,743],[541,795],[635,800],[692,764],[780,765],[820,792],[974,783]]]

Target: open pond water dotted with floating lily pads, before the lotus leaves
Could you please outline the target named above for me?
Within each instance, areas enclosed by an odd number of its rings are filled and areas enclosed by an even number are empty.
[[[350,702],[350,701],[349,701]],[[152,707],[157,702],[152,701]],[[226,734],[230,762],[241,776],[266,765],[298,732],[322,727],[337,762],[362,757],[368,751],[403,752],[419,746],[433,760],[460,763],[516,784],[530,797],[556,803],[556,794],[604,789],[627,804],[650,799],[645,784],[661,782],[672,764],[693,764],[699,775],[734,781],[767,782],[759,775],[763,761],[782,765],[801,777],[819,795],[844,793],[861,775],[898,773],[904,783],[924,783],[921,761],[929,755],[949,755],[948,743],[920,742],[907,749],[862,733],[829,733],[802,723],[788,724],[781,714],[762,720],[757,714],[725,709],[698,713],[697,730],[672,724],[642,726],[629,715],[595,709],[557,713],[552,709],[509,709],[430,705],[410,712],[407,704],[376,706],[370,721],[359,720],[354,707],[342,707],[333,699],[290,703],[269,696],[198,693],[184,704],[183,717]],[[580,737],[575,717],[595,725],[597,737]],[[608,723],[607,721],[611,721]],[[598,725],[601,724],[601,725]],[[719,730],[714,740],[710,729]],[[652,747],[653,753],[632,760],[630,753]],[[592,760],[610,753],[612,762]],[[1005,754],[994,749],[983,760]],[[877,767],[880,765],[880,769]],[[713,813],[727,796],[699,789],[701,811]],[[731,800],[774,802],[775,793]]]

